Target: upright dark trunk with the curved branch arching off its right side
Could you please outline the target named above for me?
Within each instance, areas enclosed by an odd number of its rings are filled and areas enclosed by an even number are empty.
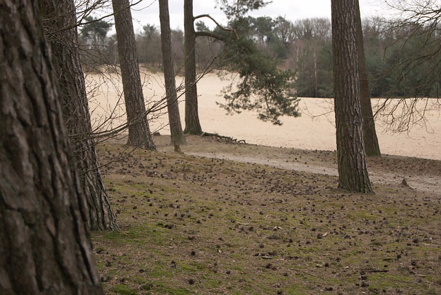
[[[185,134],[202,134],[196,88],[196,32],[194,31],[193,0],[184,0],[185,51]]]

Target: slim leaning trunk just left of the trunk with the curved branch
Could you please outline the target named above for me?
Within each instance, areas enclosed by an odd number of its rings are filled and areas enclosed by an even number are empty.
[[[163,52],[165,91],[167,95],[167,110],[170,133],[172,134],[172,145],[183,145],[187,142],[185,141],[184,132],[182,130],[178,96],[176,94],[168,0],[159,0],[159,20],[161,21],[161,48]]]

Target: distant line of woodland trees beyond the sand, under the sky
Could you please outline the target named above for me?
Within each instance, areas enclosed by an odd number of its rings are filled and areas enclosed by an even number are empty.
[[[257,47],[278,61],[280,68],[296,73],[293,88],[298,96],[332,97],[333,57],[330,19],[301,19],[295,22],[283,17],[248,17],[241,20],[240,36],[255,41]],[[362,23],[371,96],[438,97],[441,90],[441,27],[438,23],[391,23],[374,17]],[[79,39],[83,64],[112,65],[118,62],[116,37],[107,36],[112,24],[91,22],[82,28]],[[209,29],[196,23],[196,31]],[[214,34],[225,34],[217,28]],[[176,72],[183,68],[184,36],[172,30],[172,47]],[[146,25],[136,34],[139,62],[161,70],[161,33]],[[199,68],[222,57],[224,44],[209,37],[196,39],[196,63]]]

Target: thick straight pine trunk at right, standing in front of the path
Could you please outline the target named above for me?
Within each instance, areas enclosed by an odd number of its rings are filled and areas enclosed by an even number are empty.
[[[372,192],[362,136],[356,2],[331,0],[339,187]]]

